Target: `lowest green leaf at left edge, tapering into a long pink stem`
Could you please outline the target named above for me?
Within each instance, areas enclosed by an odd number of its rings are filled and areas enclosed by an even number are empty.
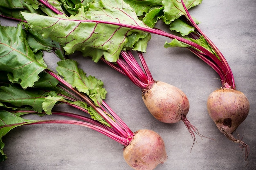
[[[0,110],[0,161],[4,161],[7,159],[7,156],[4,154],[4,143],[2,141],[2,137],[6,135],[10,130],[16,128],[18,126],[22,126],[25,124],[31,124],[38,122],[36,120],[27,120],[23,119],[19,116],[14,115],[6,110]]]

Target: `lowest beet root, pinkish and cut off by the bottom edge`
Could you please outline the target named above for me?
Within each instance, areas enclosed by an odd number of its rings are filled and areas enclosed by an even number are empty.
[[[124,148],[124,159],[135,170],[153,170],[167,159],[164,141],[152,130],[138,130]]]

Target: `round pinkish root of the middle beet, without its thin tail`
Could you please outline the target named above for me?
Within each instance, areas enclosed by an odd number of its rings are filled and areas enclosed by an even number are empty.
[[[189,112],[189,100],[177,87],[155,81],[153,86],[143,91],[142,99],[149,112],[159,121],[176,123]]]

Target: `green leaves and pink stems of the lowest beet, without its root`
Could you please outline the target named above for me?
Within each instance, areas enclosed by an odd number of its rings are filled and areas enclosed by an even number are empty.
[[[6,32],[2,34],[0,44],[1,48],[5,49],[0,58],[2,77],[6,75],[6,78],[1,79],[0,87],[3,109],[29,107],[34,112],[51,115],[56,104],[67,104],[90,114],[95,120],[93,122],[98,122],[97,126],[102,124],[100,127],[106,127],[108,130],[111,127],[109,133],[104,133],[125,146],[128,144],[125,143],[132,139],[133,133],[103,101],[107,92],[101,80],[86,76],[86,73],[78,68],[77,62],[70,59],[58,62],[56,68],[66,79],[64,80],[47,68],[42,51],[34,53],[30,49],[26,37],[23,36],[25,31],[21,24],[18,24],[17,28],[0,26],[0,29]],[[22,83],[32,76],[35,79],[29,81],[31,87]],[[122,139],[119,135],[126,136],[127,139]]]

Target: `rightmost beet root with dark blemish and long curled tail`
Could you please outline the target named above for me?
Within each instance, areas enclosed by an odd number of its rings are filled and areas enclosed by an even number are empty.
[[[213,91],[207,100],[207,110],[214,123],[229,140],[245,148],[245,160],[248,160],[248,146],[235,139],[232,133],[245,120],[249,113],[249,100],[240,91],[221,88]]]

